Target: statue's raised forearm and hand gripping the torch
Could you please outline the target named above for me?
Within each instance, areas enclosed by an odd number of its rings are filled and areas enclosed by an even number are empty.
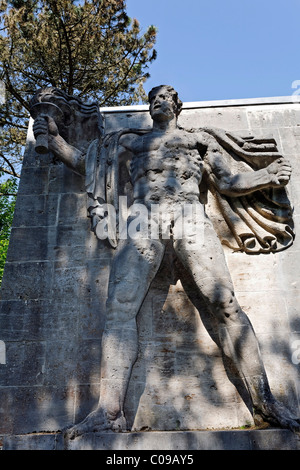
[[[85,155],[59,135],[58,127],[52,117],[38,116],[34,120],[33,132],[35,137],[48,134],[49,150],[75,173],[85,174]]]

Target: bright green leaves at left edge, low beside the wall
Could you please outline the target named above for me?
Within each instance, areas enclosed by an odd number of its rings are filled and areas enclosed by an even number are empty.
[[[11,178],[0,184],[0,285],[9,244],[16,202],[17,180]]]

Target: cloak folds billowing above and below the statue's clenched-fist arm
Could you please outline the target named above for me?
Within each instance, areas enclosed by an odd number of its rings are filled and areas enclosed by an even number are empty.
[[[259,170],[283,159],[273,138],[241,138],[221,129],[203,130],[221,145],[232,173]],[[218,193],[210,182],[208,187],[216,203],[214,218],[219,219],[215,229],[224,245],[251,254],[281,251],[293,243],[293,208],[285,186],[238,197]]]

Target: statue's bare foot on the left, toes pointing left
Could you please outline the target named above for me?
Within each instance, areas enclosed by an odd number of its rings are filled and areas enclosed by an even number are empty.
[[[89,432],[125,432],[126,430],[126,419],[123,413],[116,419],[109,419],[102,410],[95,410],[81,421],[81,423],[66,429],[64,436],[67,439],[75,439],[75,437]]]

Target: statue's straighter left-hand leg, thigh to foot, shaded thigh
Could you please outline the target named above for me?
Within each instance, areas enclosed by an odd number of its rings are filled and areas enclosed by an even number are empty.
[[[105,429],[126,430],[124,400],[138,353],[136,316],[164,250],[165,246],[155,240],[120,242],[109,280],[99,404],[83,422],[67,431],[70,438]]]

